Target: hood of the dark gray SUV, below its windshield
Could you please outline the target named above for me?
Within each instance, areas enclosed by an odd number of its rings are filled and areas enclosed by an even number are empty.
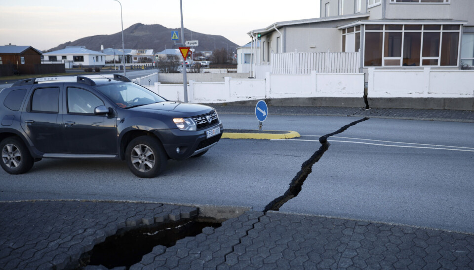
[[[138,106],[135,108],[130,108],[128,110],[143,111],[143,112],[158,112],[158,113],[160,111],[167,111],[167,112],[179,113],[179,114],[182,114],[183,117],[187,117],[187,116],[195,116],[195,115],[208,113],[212,110],[212,108],[209,106],[200,105],[200,104],[164,101],[164,102]]]

